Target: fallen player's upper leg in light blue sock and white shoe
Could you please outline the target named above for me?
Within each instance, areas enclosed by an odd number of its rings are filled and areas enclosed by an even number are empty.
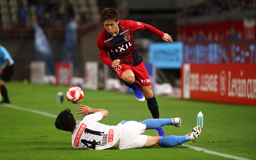
[[[159,118],[159,119],[147,119],[145,121],[141,121],[140,123],[146,124],[146,129],[156,129],[164,125],[173,125],[175,127],[181,126],[181,118]]]

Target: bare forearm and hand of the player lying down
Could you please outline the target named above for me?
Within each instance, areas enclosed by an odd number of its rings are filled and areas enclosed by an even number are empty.
[[[82,106],[82,107],[77,107],[79,109],[76,109],[76,111],[80,111],[80,112],[76,113],[77,115],[82,114],[81,116],[86,116],[86,115],[90,115],[90,114],[93,114],[96,112],[100,112],[102,114],[102,118],[108,116],[108,111],[105,109],[91,108],[91,107],[85,106],[83,104],[80,104],[80,106]]]

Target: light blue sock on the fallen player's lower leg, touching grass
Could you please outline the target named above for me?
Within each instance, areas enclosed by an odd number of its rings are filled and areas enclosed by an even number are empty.
[[[167,136],[161,137],[159,140],[159,146],[161,147],[174,147],[183,144],[188,141],[188,134],[185,136]]]

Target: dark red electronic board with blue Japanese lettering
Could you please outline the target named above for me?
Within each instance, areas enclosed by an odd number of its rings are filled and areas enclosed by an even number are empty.
[[[256,40],[185,43],[185,63],[256,63]]]

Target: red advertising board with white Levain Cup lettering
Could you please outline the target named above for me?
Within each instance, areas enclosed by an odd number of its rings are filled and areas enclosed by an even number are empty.
[[[189,64],[181,69],[182,98],[256,105],[256,64]]]

